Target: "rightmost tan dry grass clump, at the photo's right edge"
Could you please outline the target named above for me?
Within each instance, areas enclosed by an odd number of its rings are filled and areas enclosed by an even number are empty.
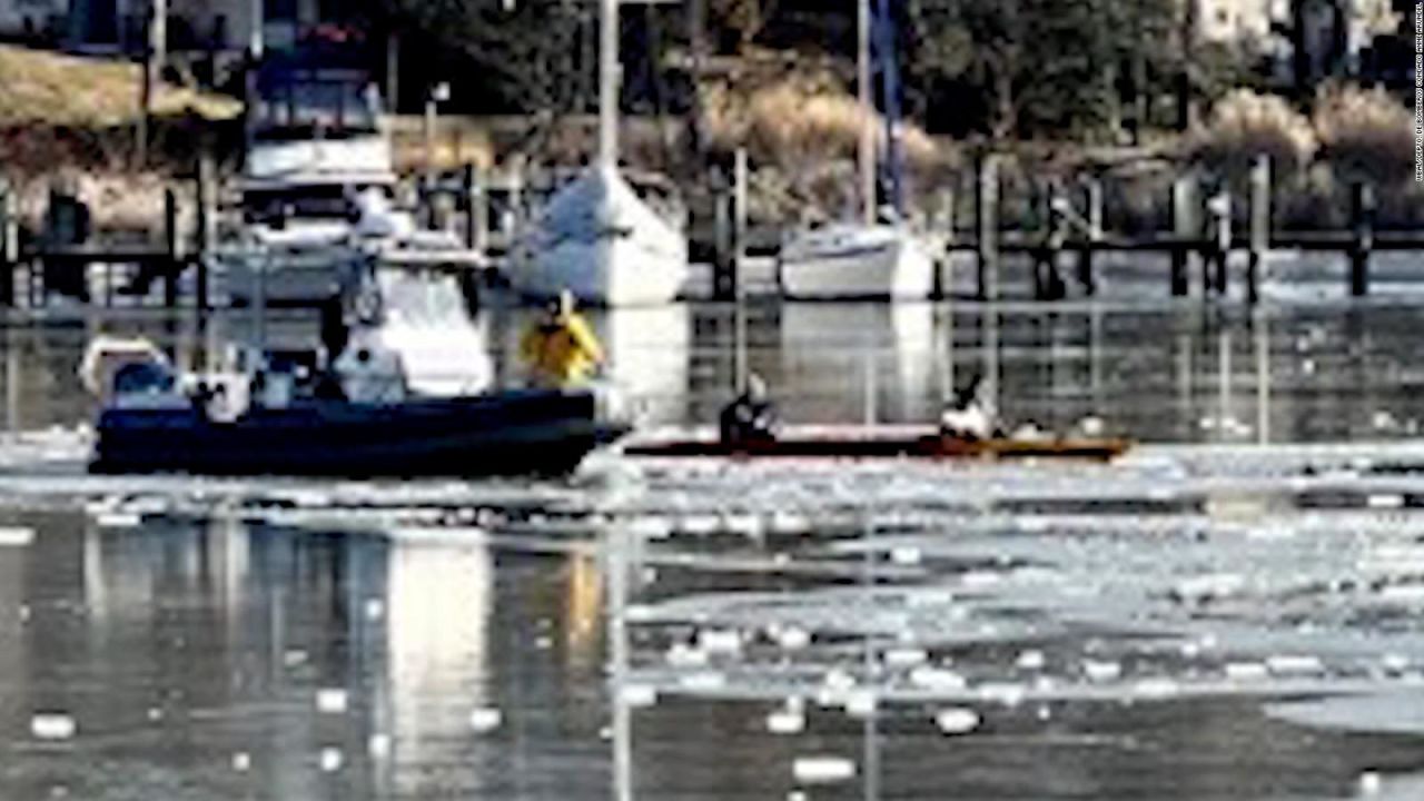
[[[1346,178],[1393,182],[1413,175],[1414,118],[1384,90],[1326,87],[1312,117],[1320,155]]]

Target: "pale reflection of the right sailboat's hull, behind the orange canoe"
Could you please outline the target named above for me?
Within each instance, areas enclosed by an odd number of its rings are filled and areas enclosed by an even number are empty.
[[[938,415],[931,304],[787,304],[780,329],[780,375],[766,378],[789,420]]]

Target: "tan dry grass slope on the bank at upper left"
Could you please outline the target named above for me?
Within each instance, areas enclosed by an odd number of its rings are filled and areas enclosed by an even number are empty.
[[[138,66],[128,61],[0,46],[0,127],[130,124],[140,111],[140,78]],[[229,120],[241,114],[242,105],[224,95],[162,87],[155,111],[159,117],[194,113]]]

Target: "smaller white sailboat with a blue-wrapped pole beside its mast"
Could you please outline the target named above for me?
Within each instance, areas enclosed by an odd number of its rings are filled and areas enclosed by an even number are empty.
[[[879,26],[870,13],[870,0],[860,0],[860,195],[863,218],[822,228],[792,232],[782,242],[778,275],[787,299],[847,301],[891,299],[923,301],[934,288],[934,257],[927,242],[914,235],[900,212],[897,76],[890,41],[889,7],[881,0]],[[886,144],[891,172],[890,214],[876,207],[876,133],[871,100],[871,33],[880,31],[880,57],[886,88]]]

